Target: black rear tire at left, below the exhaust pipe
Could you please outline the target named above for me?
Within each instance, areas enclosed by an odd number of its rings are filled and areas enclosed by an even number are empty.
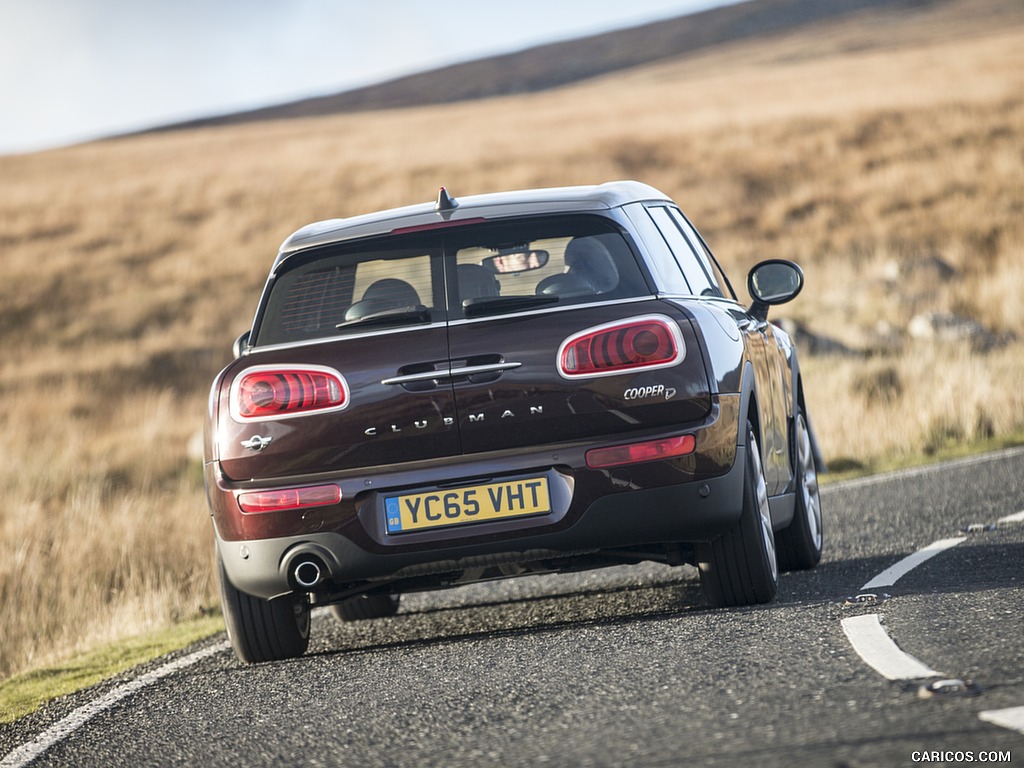
[[[294,658],[309,646],[309,600],[286,595],[272,600],[237,589],[217,552],[220,605],[227,638],[240,660],[247,664]]]

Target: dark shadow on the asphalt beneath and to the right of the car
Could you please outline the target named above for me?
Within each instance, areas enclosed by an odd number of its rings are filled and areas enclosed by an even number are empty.
[[[873,592],[891,598],[1019,587],[1009,564],[1024,561],[1024,544],[977,544],[956,554],[968,558],[964,568],[953,571],[941,562],[928,562],[897,585]],[[388,618],[341,623],[327,610],[314,611],[313,638],[307,655],[459,644],[719,612],[734,614],[814,605],[856,609],[857,603],[848,600],[862,592],[860,586],[903,556],[826,559],[814,569],[781,574],[779,591],[772,602],[736,608],[712,607],[700,589],[696,570],[688,566],[622,566],[606,569],[611,572],[608,578],[602,571],[527,577],[497,587],[473,585],[408,595],[398,614]],[[1008,567],[986,569],[983,566],[986,562],[999,562]],[[631,571],[632,568],[646,569]],[[975,574],[971,582],[965,583],[954,574],[964,569]],[[586,584],[580,585],[580,579]],[[869,602],[864,605],[870,607]]]

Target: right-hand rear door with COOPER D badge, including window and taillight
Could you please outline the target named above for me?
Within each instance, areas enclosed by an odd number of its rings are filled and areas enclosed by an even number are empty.
[[[464,453],[627,435],[710,412],[689,321],[658,301],[609,219],[449,236],[450,347]]]

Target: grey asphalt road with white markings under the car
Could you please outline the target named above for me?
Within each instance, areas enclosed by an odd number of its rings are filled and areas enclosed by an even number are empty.
[[[0,766],[1024,764],[1024,521],[999,522],[1024,451],[823,504],[822,563],[766,606],[713,610],[694,569],[644,565],[316,612],[303,658],[247,667],[220,637],[0,726]],[[923,696],[941,679],[965,685]]]

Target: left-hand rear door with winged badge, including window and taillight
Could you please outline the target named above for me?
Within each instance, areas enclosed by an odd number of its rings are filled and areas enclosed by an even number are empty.
[[[233,479],[458,455],[439,238],[293,256],[264,292],[254,350],[219,388]]]

